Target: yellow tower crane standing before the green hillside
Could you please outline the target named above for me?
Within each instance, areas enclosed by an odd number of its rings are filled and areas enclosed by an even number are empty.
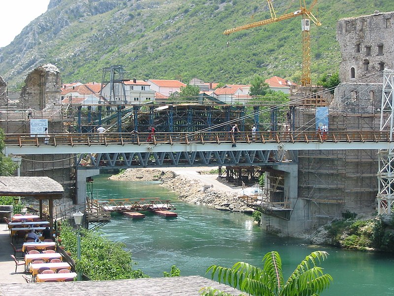
[[[271,13],[271,18],[263,21],[239,26],[236,28],[232,28],[226,30],[223,34],[229,35],[234,32],[238,32],[241,30],[246,30],[254,27],[259,27],[263,25],[268,25],[274,22],[279,22],[283,20],[287,20],[289,18],[296,17],[298,15],[302,15],[302,76],[301,76],[301,86],[310,87],[311,86],[311,48],[310,48],[310,20],[316,25],[321,26],[322,24],[319,20],[312,14],[311,10],[316,5],[317,0],[313,0],[309,9],[306,8],[305,0],[299,0],[300,8],[291,13],[285,13],[279,17],[276,17],[276,13],[274,7],[272,5],[272,0],[267,0],[269,11]]]

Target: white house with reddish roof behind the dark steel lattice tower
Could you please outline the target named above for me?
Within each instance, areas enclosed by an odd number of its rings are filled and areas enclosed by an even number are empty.
[[[107,83],[101,91],[101,95],[110,104],[139,105],[155,101],[156,92],[151,90],[151,84],[144,80],[132,79],[123,81],[123,84],[116,84],[115,89],[112,87],[110,83]]]

